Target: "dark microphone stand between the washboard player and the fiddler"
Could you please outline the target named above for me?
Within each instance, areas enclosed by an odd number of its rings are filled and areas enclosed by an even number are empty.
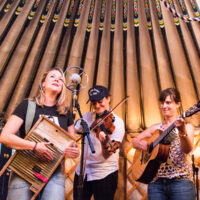
[[[92,153],[95,153],[95,149],[94,149],[94,145],[93,145],[91,138],[90,138],[90,128],[88,127],[88,124],[83,120],[83,116],[81,114],[80,106],[79,106],[77,100],[75,100],[75,107],[78,110],[79,116],[81,118],[81,125],[83,127],[83,132],[81,132],[82,138],[81,138],[80,175],[78,177],[78,186],[77,186],[77,189],[78,189],[77,199],[82,200],[83,182],[84,182],[84,171],[83,171],[83,164],[84,163],[83,162],[84,162],[85,136],[87,136],[88,143],[89,143],[89,146],[90,146]]]

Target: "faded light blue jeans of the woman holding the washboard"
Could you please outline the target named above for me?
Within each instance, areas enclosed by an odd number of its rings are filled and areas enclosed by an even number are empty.
[[[19,199],[30,200],[33,192],[29,190],[30,184],[17,174],[12,173],[8,184],[7,200]],[[54,172],[36,200],[64,200],[65,199],[65,176],[61,167]]]

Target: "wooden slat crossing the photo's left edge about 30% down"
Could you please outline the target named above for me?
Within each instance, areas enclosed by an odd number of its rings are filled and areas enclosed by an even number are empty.
[[[25,21],[27,20],[28,14],[34,4],[34,0],[26,1],[22,12],[15,20],[14,24],[10,28],[7,36],[5,37],[2,45],[0,46],[0,75],[9,59],[9,56],[12,53],[12,50],[17,42],[17,39],[20,37],[20,33],[25,26]]]

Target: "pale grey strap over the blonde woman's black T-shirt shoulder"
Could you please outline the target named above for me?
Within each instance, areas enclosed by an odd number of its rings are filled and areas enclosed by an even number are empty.
[[[25,119],[25,132],[26,134],[29,132],[31,125],[33,123],[33,119],[35,116],[36,103],[32,100],[28,100],[28,106],[26,111],[26,119]]]

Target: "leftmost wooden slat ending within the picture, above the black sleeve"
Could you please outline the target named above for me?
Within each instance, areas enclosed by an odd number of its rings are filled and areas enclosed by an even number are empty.
[[[48,11],[46,21],[39,30],[39,33],[31,48],[30,54],[28,55],[23,71],[15,88],[14,94],[10,100],[10,104],[6,110],[7,117],[13,112],[13,110],[22,101],[22,99],[25,98],[25,95],[31,88],[32,80],[35,76],[40,61],[41,52],[44,48],[45,39],[48,33],[47,30],[49,30],[49,27],[52,23],[51,20],[54,15],[55,8],[56,0],[52,1],[51,8]]]

